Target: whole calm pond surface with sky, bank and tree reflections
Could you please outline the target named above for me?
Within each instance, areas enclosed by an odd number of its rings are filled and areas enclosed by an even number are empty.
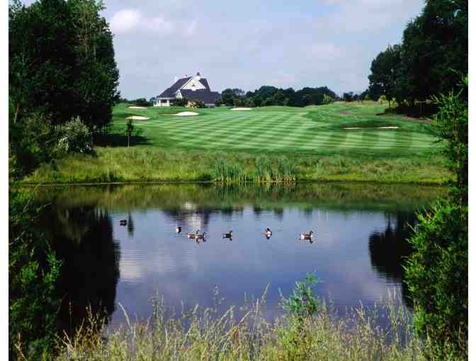
[[[156,295],[180,311],[213,306],[217,288],[226,308],[244,304],[245,294],[260,297],[266,285],[272,318],[283,312],[279,290],[289,294],[309,272],[322,280],[316,294],[337,311],[373,306],[389,290],[405,300],[409,226],[442,192],[344,183],[98,185],[39,188],[36,197],[50,204],[40,227],[64,260],[63,319],[74,328],[86,304],[105,308],[117,326],[125,321],[118,304],[144,320]],[[186,237],[197,229],[205,240]],[[222,238],[230,230],[232,239]],[[310,230],[312,241],[299,238]]]

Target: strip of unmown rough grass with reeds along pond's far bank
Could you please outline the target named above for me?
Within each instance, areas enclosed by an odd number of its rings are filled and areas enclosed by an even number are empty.
[[[441,184],[449,178],[441,156],[371,157],[353,154],[256,154],[244,152],[96,148],[97,156],[71,155],[42,164],[26,183],[216,181],[220,183],[372,181]]]

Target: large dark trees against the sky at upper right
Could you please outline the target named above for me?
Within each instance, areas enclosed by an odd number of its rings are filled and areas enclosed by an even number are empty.
[[[457,88],[468,67],[467,9],[467,0],[426,0],[421,14],[407,24],[402,43],[373,59],[370,98],[383,95],[407,113],[421,113],[421,104],[431,103],[432,96]],[[437,110],[434,103],[426,108]]]

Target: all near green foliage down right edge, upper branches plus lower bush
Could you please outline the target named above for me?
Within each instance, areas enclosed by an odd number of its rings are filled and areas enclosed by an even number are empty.
[[[437,359],[467,357],[467,77],[457,94],[435,98],[440,111],[436,132],[443,140],[447,166],[456,176],[450,197],[430,212],[419,214],[420,224],[410,243],[415,253],[405,268],[416,306],[415,328],[431,341]]]

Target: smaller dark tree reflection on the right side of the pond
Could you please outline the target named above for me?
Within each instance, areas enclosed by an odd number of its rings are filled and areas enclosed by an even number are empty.
[[[380,277],[402,285],[402,294],[407,306],[409,302],[408,287],[403,282],[403,263],[412,252],[407,239],[412,235],[417,218],[414,213],[386,214],[385,230],[373,231],[368,237],[368,250],[372,267]],[[395,219],[392,226],[392,220]]]

